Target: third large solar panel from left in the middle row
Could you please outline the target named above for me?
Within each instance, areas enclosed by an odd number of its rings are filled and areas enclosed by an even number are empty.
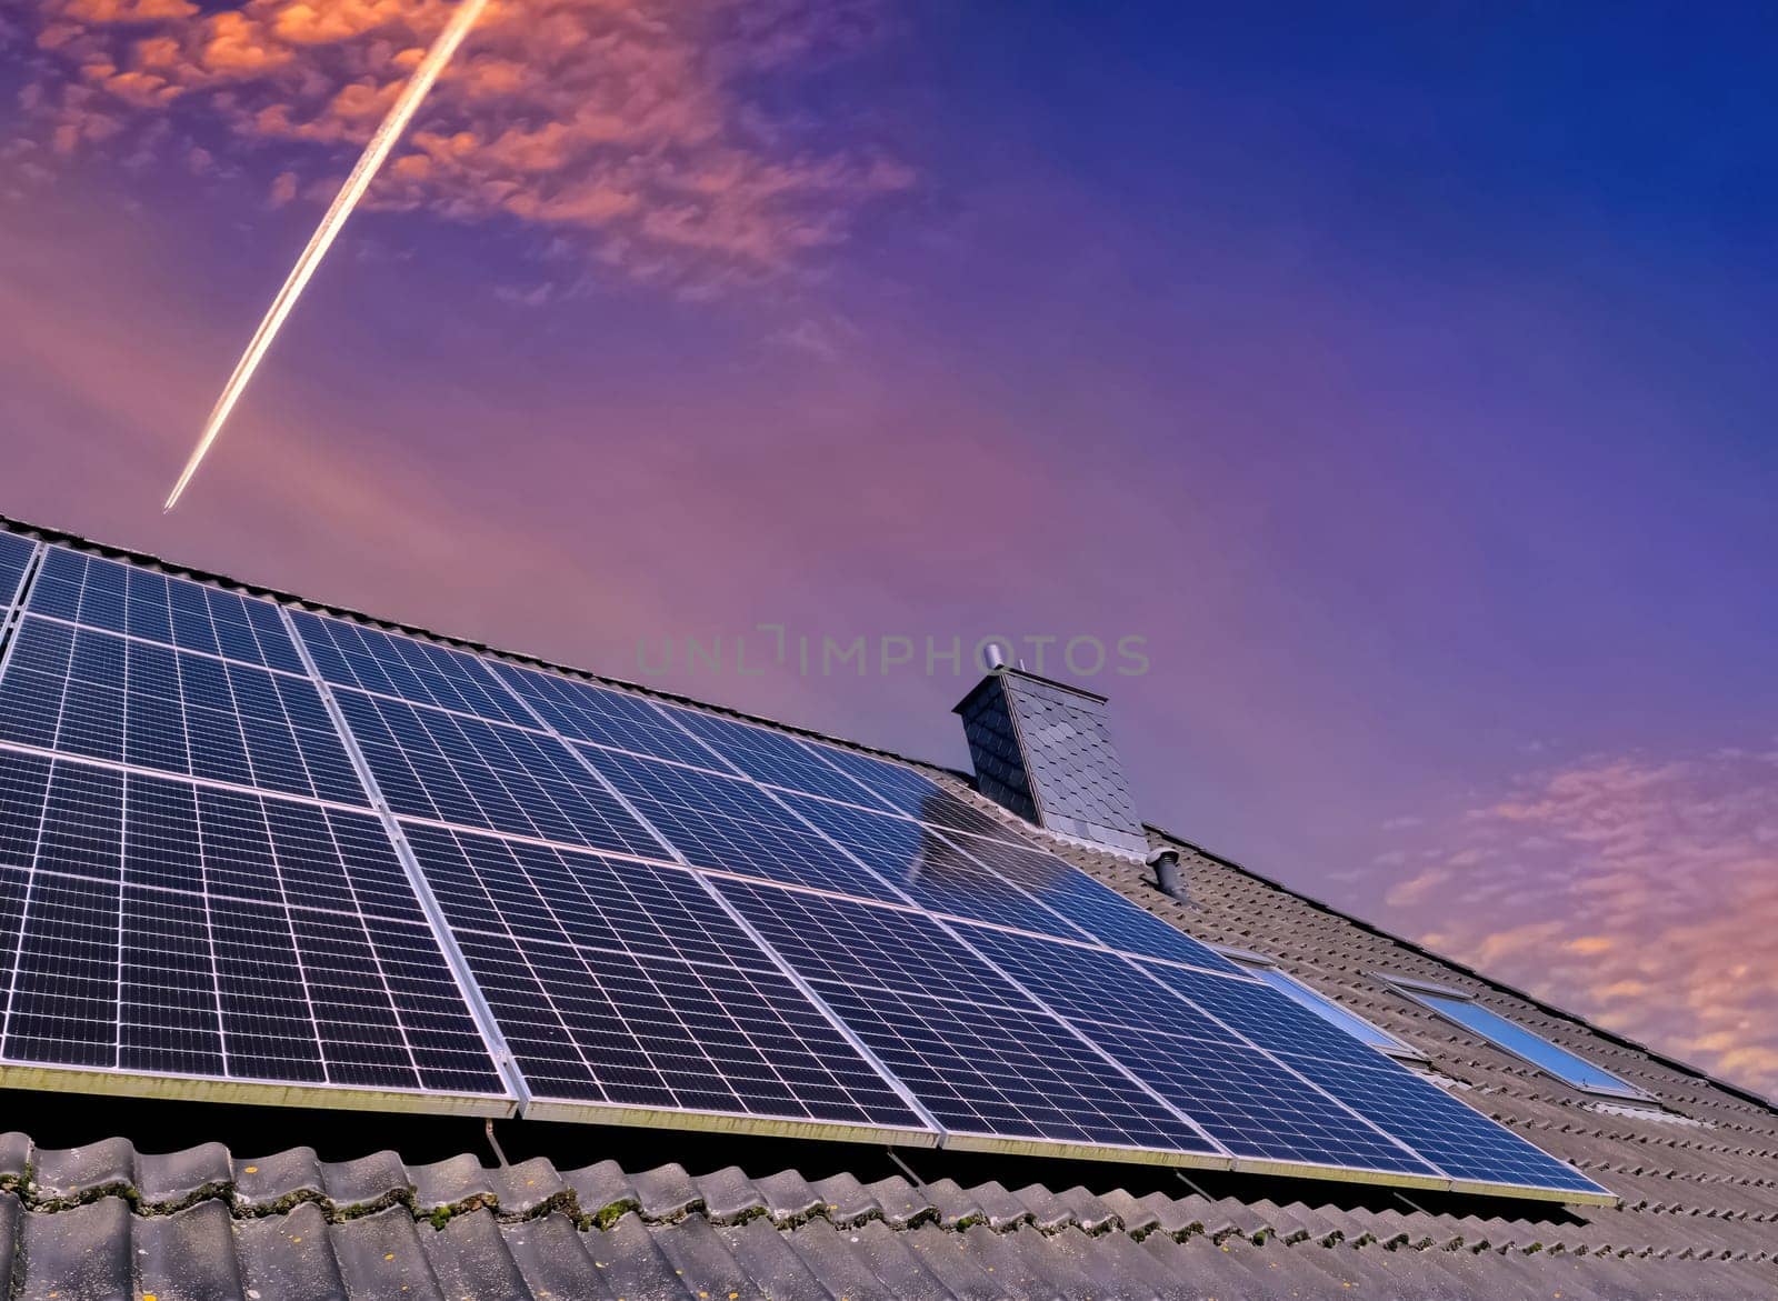
[[[613,750],[583,754],[686,862],[768,882],[894,898],[887,883],[834,850],[752,782]]]

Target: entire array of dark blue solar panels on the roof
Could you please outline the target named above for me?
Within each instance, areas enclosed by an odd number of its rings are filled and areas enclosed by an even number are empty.
[[[0,533],[14,592],[0,1082],[1609,1196],[910,766]]]

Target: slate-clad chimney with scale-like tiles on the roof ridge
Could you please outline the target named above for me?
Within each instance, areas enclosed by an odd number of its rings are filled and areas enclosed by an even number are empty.
[[[981,794],[1051,832],[1120,853],[1149,851],[1102,695],[990,663],[955,713]]]

